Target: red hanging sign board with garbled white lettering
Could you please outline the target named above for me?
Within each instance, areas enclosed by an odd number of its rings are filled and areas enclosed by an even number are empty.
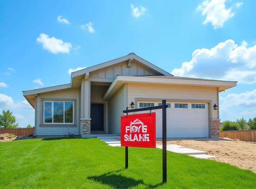
[[[121,146],[156,148],[156,113],[121,116]]]

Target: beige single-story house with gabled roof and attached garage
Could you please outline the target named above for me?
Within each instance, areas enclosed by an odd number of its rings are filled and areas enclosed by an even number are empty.
[[[209,70],[210,71],[210,70]],[[167,101],[168,138],[219,138],[219,92],[236,82],[175,77],[130,53],[71,74],[65,85],[23,91],[35,109],[35,135],[69,133],[90,138],[120,135],[123,110]],[[156,111],[156,137],[162,114]],[[143,112],[142,112],[143,113]]]

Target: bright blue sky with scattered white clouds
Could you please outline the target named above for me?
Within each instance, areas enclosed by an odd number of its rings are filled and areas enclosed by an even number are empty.
[[[22,91],[131,52],[174,76],[238,81],[220,119],[256,116],[256,1],[1,1],[0,112],[34,126]]]

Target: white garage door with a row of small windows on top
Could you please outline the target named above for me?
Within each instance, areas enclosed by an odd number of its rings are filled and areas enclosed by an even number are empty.
[[[167,138],[207,138],[208,104],[166,102]],[[161,102],[138,102],[138,107],[162,105]],[[153,111],[152,111],[153,112]],[[162,138],[162,110],[156,112],[156,138]]]

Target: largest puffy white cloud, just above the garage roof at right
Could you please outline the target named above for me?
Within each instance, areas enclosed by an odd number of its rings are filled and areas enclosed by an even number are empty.
[[[212,49],[196,49],[192,59],[175,68],[172,74],[256,83],[256,45],[246,48],[227,40]]]

